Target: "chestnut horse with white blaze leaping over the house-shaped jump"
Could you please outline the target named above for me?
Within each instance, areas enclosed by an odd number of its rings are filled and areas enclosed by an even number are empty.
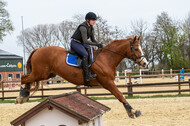
[[[134,118],[141,115],[141,112],[132,108],[124,98],[123,94],[116,87],[114,80],[116,67],[124,58],[133,59],[139,66],[147,65],[146,58],[139,44],[140,37],[130,37],[128,39],[114,40],[104,48],[94,51],[95,62],[91,66],[93,73],[97,75],[95,80],[90,81],[91,86],[102,86],[110,91],[121,103],[123,103],[129,117]],[[68,50],[50,46],[34,50],[27,61],[27,75],[21,78],[21,84],[25,89],[30,89],[31,84],[59,75],[75,85],[83,85],[83,71],[77,67],[66,64],[65,59]],[[28,90],[31,91],[31,90]],[[17,103],[26,102],[29,92],[25,95],[20,93]]]

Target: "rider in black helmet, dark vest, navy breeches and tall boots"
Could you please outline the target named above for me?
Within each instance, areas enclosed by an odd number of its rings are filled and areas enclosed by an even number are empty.
[[[87,13],[85,16],[85,22],[83,22],[77,27],[76,31],[71,37],[71,49],[82,57],[82,68],[85,86],[90,86],[89,81],[96,77],[95,74],[91,74],[88,68],[88,50],[90,49],[89,45],[98,46],[99,48],[102,48],[102,44],[99,44],[94,38],[93,25],[95,24],[96,19],[97,16],[95,13]],[[88,40],[89,38],[91,41]]]

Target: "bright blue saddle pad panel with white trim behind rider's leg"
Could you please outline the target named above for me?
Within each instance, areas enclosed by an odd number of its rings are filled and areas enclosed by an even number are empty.
[[[79,67],[79,65],[77,64],[77,56],[70,53],[67,54],[66,63],[71,66]]]

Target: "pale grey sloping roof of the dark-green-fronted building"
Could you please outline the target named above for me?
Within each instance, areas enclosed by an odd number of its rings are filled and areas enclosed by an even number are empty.
[[[21,59],[21,56],[0,49],[0,59]]]

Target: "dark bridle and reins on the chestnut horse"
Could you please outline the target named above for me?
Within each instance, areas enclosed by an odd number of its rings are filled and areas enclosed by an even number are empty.
[[[145,58],[145,56],[144,56],[144,55],[142,55],[142,56],[136,56],[136,55],[135,55],[135,51],[138,51],[138,49],[135,49],[135,50],[133,49],[133,44],[132,44],[132,42],[133,42],[133,41],[130,40],[131,57],[130,57],[129,59],[132,59],[134,62],[140,64],[140,63],[143,61],[143,59]],[[109,52],[112,52],[112,53],[115,53],[115,54],[117,54],[117,55],[123,56],[124,58],[128,58],[128,57],[127,57],[126,55],[124,55],[124,54],[121,54],[121,53],[112,51],[112,50],[110,50],[110,49],[101,48],[101,50],[98,51],[98,53],[97,53],[97,55],[96,55],[94,61],[96,60],[96,58],[99,56],[99,54],[100,54],[103,50],[107,50],[107,51],[109,51]],[[133,59],[133,56],[135,57],[135,59]],[[142,58],[140,61],[137,61],[137,60],[140,59],[141,57],[143,57],[143,58]]]

